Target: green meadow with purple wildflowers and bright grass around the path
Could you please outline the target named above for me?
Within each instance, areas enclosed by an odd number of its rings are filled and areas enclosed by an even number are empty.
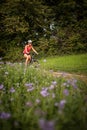
[[[65,72],[87,75],[87,54],[0,62],[0,130],[86,130],[87,84]]]

